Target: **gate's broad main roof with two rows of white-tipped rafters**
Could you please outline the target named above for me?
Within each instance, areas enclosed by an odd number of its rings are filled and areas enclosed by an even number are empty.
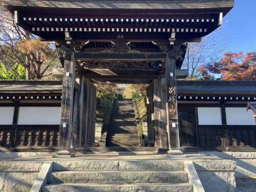
[[[17,22],[45,40],[63,41],[65,31],[74,41],[131,41],[176,39],[189,41],[219,27],[233,0],[184,1],[37,1],[6,0]]]

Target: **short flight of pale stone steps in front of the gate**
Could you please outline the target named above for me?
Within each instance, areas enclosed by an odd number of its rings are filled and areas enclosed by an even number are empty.
[[[55,191],[193,191],[184,161],[58,161],[42,192]]]

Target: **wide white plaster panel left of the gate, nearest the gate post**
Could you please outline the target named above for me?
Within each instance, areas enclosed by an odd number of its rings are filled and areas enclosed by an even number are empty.
[[[30,107],[19,108],[18,124],[60,124],[60,107]]]

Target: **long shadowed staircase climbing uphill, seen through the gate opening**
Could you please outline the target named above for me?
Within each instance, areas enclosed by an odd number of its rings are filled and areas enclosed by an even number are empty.
[[[106,146],[139,146],[132,99],[115,99]]]

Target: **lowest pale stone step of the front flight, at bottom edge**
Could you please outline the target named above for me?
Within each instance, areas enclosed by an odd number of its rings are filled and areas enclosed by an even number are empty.
[[[48,184],[42,187],[42,192],[191,192],[193,186],[189,183],[133,183],[133,184],[99,184],[99,183],[62,183]]]

